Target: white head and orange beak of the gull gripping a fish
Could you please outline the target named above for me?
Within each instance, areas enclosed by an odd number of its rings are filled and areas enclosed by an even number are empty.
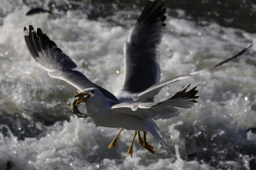
[[[75,98],[78,97],[78,101],[76,104],[80,104],[82,102],[93,102],[94,100],[100,100],[101,98],[104,98],[104,95],[98,88],[86,88],[80,93],[77,93]],[[105,99],[105,98],[104,98]]]

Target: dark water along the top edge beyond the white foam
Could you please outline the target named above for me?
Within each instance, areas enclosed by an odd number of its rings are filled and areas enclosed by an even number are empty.
[[[23,0],[20,4],[26,4],[31,8],[81,10],[89,14],[88,18],[96,19],[113,15],[118,10],[142,10],[146,2],[147,0],[64,0],[44,4]],[[199,24],[203,20],[214,21],[225,27],[256,32],[256,0],[166,0],[165,4],[170,15],[178,18],[186,18]],[[184,10],[184,13],[180,14],[177,10]],[[2,13],[6,15],[8,12]]]

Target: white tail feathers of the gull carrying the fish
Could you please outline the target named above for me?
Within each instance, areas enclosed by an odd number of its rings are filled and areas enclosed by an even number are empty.
[[[170,148],[170,146],[157,133],[156,129],[159,130],[159,128],[153,120],[144,120],[143,123],[147,128],[148,132],[151,133],[151,135],[155,137],[162,146]]]

